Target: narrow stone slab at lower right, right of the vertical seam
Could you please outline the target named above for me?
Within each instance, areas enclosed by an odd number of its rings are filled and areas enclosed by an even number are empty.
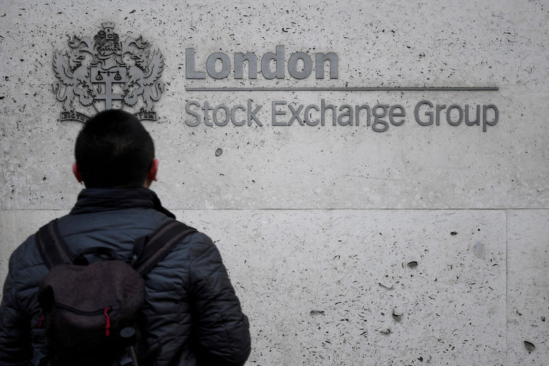
[[[509,365],[549,364],[549,211],[509,211]]]

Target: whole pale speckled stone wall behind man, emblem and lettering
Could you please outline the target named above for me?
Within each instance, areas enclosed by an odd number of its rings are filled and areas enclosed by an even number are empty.
[[[544,1],[11,1],[0,19],[1,278],[82,189],[71,174],[82,123],[61,120],[56,50],[112,22],[152,45],[149,60],[163,55],[157,120],[143,122],[161,161],[152,188],[220,248],[250,317],[248,365],[549,365]],[[250,79],[247,65],[242,79],[188,78],[186,49],[205,71],[214,52],[234,66],[277,45],[285,62],[336,53],[338,78],[317,79],[318,65],[304,79],[287,65],[281,79]],[[294,90],[187,90],[235,87]],[[331,90],[296,89],[307,87]],[[352,87],[447,89],[336,90]],[[471,87],[497,90],[451,89]],[[404,123],[273,123],[272,102],[289,122],[290,105],[320,119],[303,111],[322,100],[400,105]],[[446,106],[439,125],[417,122],[423,100]],[[189,126],[188,102],[261,105],[259,123]],[[452,126],[453,104],[473,117],[497,106],[498,122]]]

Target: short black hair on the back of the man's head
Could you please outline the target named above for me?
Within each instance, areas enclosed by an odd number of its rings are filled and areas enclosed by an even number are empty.
[[[135,115],[111,109],[86,122],[74,155],[88,188],[140,187],[154,159],[154,144]]]

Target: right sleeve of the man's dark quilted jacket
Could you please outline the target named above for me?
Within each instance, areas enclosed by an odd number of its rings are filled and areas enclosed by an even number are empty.
[[[204,234],[189,258],[189,293],[198,365],[244,365],[250,354],[248,318],[215,244]]]

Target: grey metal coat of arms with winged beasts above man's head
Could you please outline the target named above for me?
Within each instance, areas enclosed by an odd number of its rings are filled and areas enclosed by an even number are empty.
[[[93,38],[73,35],[67,49],[54,53],[53,87],[63,103],[61,121],[86,122],[86,113],[110,108],[156,121],[153,102],[164,90],[161,52],[142,36],[121,40],[114,32],[115,23],[102,23],[102,28]]]

